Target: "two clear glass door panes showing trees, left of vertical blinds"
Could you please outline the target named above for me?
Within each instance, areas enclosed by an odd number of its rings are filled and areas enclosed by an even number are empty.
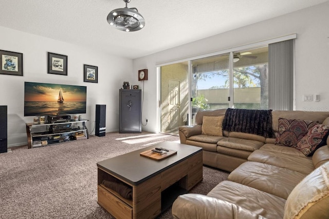
[[[191,113],[200,109],[268,109],[268,47],[191,61]]]

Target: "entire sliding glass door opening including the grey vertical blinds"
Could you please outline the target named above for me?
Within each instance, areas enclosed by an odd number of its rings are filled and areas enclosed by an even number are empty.
[[[161,66],[161,132],[195,125],[199,110],[292,110],[294,39],[261,45]]]

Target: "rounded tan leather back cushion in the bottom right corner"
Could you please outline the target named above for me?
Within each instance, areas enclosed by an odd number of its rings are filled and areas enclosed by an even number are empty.
[[[302,180],[287,198],[284,218],[327,218],[329,215],[329,162]]]

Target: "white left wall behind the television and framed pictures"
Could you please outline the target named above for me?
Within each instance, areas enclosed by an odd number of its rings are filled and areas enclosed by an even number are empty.
[[[23,53],[24,65],[24,76],[0,74],[0,105],[8,106],[8,147],[27,144],[25,123],[33,122],[33,116],[24,116],[24,82],[87,86],[82,117],[89,120],[88,131],[95,127],[96,104],[106,105],[106,132],[118,130],[119,89],[123,81],[132,81],[131,59],[5,27],[0,33],[0,49]],[[68,56],[67,76],[47,73],[47,52]],[[83,82],[84,64],[98,66],[97,84]]]

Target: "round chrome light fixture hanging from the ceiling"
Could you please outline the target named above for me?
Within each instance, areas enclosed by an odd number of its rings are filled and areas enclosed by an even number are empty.
[[[130,32],[142,29],[145,26],[144,17],[138,13],[137,8],[128,8],[131,0],[123,0],[124,8],[117,8],[107,15],[108,24],[118,30]]]

